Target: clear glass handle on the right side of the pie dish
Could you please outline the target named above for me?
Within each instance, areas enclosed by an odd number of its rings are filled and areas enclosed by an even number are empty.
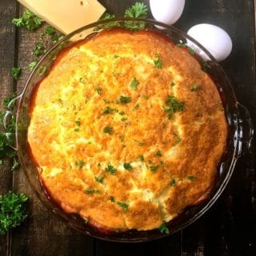
[[[238,157],[249,154],[254,138],[254,126],[250,118],[250,113],[242,104],[238,107]]]

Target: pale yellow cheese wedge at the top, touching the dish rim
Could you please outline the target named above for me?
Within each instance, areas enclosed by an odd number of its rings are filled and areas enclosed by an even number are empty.
[[[96,0],[18,0],[64,34],[96,22],[106,10]]]

